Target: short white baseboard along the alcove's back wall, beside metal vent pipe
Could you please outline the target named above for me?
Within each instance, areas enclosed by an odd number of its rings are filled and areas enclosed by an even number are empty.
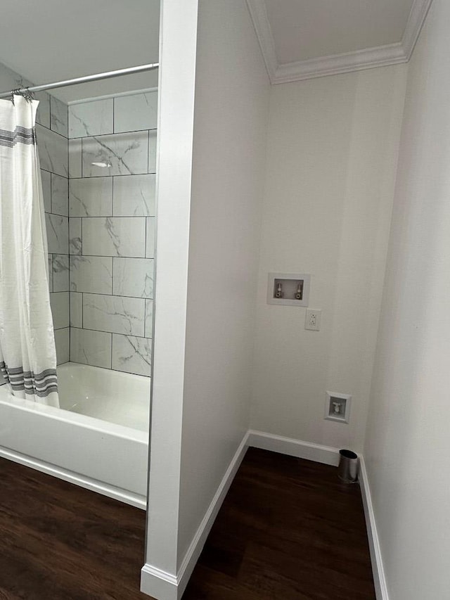
[[[339,464],[338,448],[321,446],[320,444],[313,444],[311,442],[302,442],[302,440],[294,440],[293,438],[283,438],[281,435],[264,433],[264,431],[250,429],[248,432],[248,445],[318,463],[333,466],[338,466]]]

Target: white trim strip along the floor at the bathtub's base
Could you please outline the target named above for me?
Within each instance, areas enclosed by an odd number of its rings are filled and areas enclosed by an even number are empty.
[[[138,509],[146,510],[147,501],[145,496],[121,490],[114,485],[108,485],[108,483],[103,483],[102,481],[86,477],[86,475],[80,475],[79,473],[74,473],[74,471],[68,471],[68,469],[28,457],[26,454],[20,454],[20,452],[14,452],[8,448],[0,447],[0,457],[34,468],[36,471],[41,471],[41,473],[52,475],[58,479],[68,481],[69,483],[79,485],[79,487],[84,487],[86,490],[91,490],[92,492],[103,494],[103,496],[120,500],[120,502],[124,502],[125,504],[131,504],[131,506],[136,506]]]

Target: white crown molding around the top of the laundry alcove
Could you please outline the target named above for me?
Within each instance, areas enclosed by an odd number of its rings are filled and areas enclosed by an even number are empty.
[[[296,82],[407,63],[411,58],[431,4],[432,0],[414,0],[401,42],[280,64],[276,58],[274,37],[264,0],[247,0],[248,10],[271,84]]]

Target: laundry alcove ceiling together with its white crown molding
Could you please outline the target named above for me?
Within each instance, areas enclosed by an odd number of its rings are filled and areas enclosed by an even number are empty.
[[[407,62],[432,0],[247,0],[271,82]]]

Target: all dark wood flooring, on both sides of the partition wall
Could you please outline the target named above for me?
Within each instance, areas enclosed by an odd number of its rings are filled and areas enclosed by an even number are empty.
[[[145,514],[0,459],[0,600],[145,600]],[[373,600],[358,485],[249,449],[184,600]]]

